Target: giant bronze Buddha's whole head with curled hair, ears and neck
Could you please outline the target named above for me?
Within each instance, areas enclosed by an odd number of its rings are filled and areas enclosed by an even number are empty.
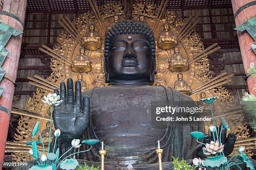
[[[154,82],[155,40],[151,29],[138,20],[115,24],[105,38],[106,82],[146,85]]]

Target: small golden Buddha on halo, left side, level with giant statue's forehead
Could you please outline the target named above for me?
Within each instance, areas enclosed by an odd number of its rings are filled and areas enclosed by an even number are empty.
[[[96,32],[95,25],[89,26],[89,31],[82,38],[81,45],[87,50],[97,50],[102,46],[100,35]]]

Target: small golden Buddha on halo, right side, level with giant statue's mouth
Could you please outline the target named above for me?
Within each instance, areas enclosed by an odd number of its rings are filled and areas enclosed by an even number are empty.
[[[189,69],[188,60],[179,51],[179,47],[174,48],[174,54],[169,60],[169,70],[172,72],[184,72]]]

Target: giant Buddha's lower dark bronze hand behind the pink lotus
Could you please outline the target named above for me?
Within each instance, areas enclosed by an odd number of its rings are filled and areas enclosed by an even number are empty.
[[[220,139],[222,145],[224,145],[224,150],[223,150],[224,155],[228,156],[233,152],[235,142],[236,142],[236,135],[234,133],[229,133],[228,137],[227,137],[227,130],[224,127],[221,130],[221,127],[222,127],[222,124],[220,124],[219,129],[220,129],[221,133],[219,131],[218,139]],[[217,131],[218,131],[218,128],[217,128]],[[217,140],[217,135],[215,132],[214,132],[214,137],[215,137],[215,140]],[[206,138],[204,139],[203,143],[210,144],[211,141],[214,141],[213,133],[211,133],[211,135],[206,135]],[[195,152],[194,152],[194,158],[198,158],[198,157],[207,158],[206,155],[204,155],[204,153],[202,151],[203,147],[205,147],[205,145],[200,144],[197,146],[197,148],[195,149]]]

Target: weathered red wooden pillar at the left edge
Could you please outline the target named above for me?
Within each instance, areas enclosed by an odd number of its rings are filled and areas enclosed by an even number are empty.
[[[4,0],[3,11],[12,13],[20,18],[23,22],[26,15],[27,0]],[[9,25],[12,28],[23,31],[23,26],[16,19],[7,15],[0,15],[0,22]],[[18,71],[18,62],[20,58],[22,34],[17,37],[11,37],[5,48],[9,50],[5,62],[2,67],[6,71],[5,75],[16,80]],[[10,110],[13,102],[14,84],[11,80],[3,77],[0,87],[4,88],[4,92],[0,97],[0,169],[2,169],[3,158],[5,154],[5,144],[8,133]]]

